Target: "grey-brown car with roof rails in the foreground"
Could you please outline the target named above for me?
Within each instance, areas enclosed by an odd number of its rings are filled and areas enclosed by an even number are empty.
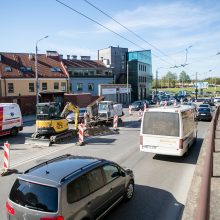
[[[97,219],[133,193],[131,170],[105,159],[67,154],[17,177],[6,202],[7,217]]]

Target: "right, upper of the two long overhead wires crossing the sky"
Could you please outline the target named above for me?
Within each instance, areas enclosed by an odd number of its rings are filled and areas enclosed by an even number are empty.
[[[161,54],[163,54],[165,57],[168,57],[169,59],[171,59],[172,61],[174,61],[176,63],[176,60],[174,60],[173,58],[171,58],[170,56],[168,56],[167,54],[165,54],[163,51],[161,51],[160,49],[158,49],[156,46],[154,46],[153,44],[149,43],[147,40],[145,40],[143,37],[141,37],[140,35],[136,34],[134,31],[132,31],[131,29],[129,29],[128,27],[126,27],[125,25],[123,25],[122,23],[120,23],[119,21],[117,21],[115,18],[113,18],[111,15],[107,14],[106,12],[104,12],[103,10],[101,10],[100,8],[98,8],[97,6],[95,6],[94,4],[92,4],[91,2],[89,2],[88,0],[84,0],[87,4],[91,5],[93,8],[95,8],[96,10],[100,11],[102,14],[104,14],[105,16],[107,16],[108,18],[110,18],[111,20],[113,20],[114,22],[116,22],[117,24],[119,24],[121,27],[123,27],[124,29],[126,29],[127,31],[129,31],[130,33],[132,33],[134,36],[136,36],[138,39],[144,41],[145,43],[147,43],[148,45],[150,45],[152,48],[154,48],[155,50],[157,50],[158,52],[160,52]]]

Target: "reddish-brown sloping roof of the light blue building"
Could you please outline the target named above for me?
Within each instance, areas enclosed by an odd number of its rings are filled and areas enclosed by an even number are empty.
[[[101,61],[95,60],[66,60],[63,59],[63,63],[67,67],[72,68],[107,68]]]

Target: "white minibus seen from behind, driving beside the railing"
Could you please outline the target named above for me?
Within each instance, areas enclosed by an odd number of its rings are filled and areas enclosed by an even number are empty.
[[[149,108],[140,130],[140,151],[182,156],[197,138],[195,108],[188,105]]]

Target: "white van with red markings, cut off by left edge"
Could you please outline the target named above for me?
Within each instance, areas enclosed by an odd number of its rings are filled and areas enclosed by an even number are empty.
[[[16,103],[0,103],[0,136],[16,136],[23,130],[21,110]]]

